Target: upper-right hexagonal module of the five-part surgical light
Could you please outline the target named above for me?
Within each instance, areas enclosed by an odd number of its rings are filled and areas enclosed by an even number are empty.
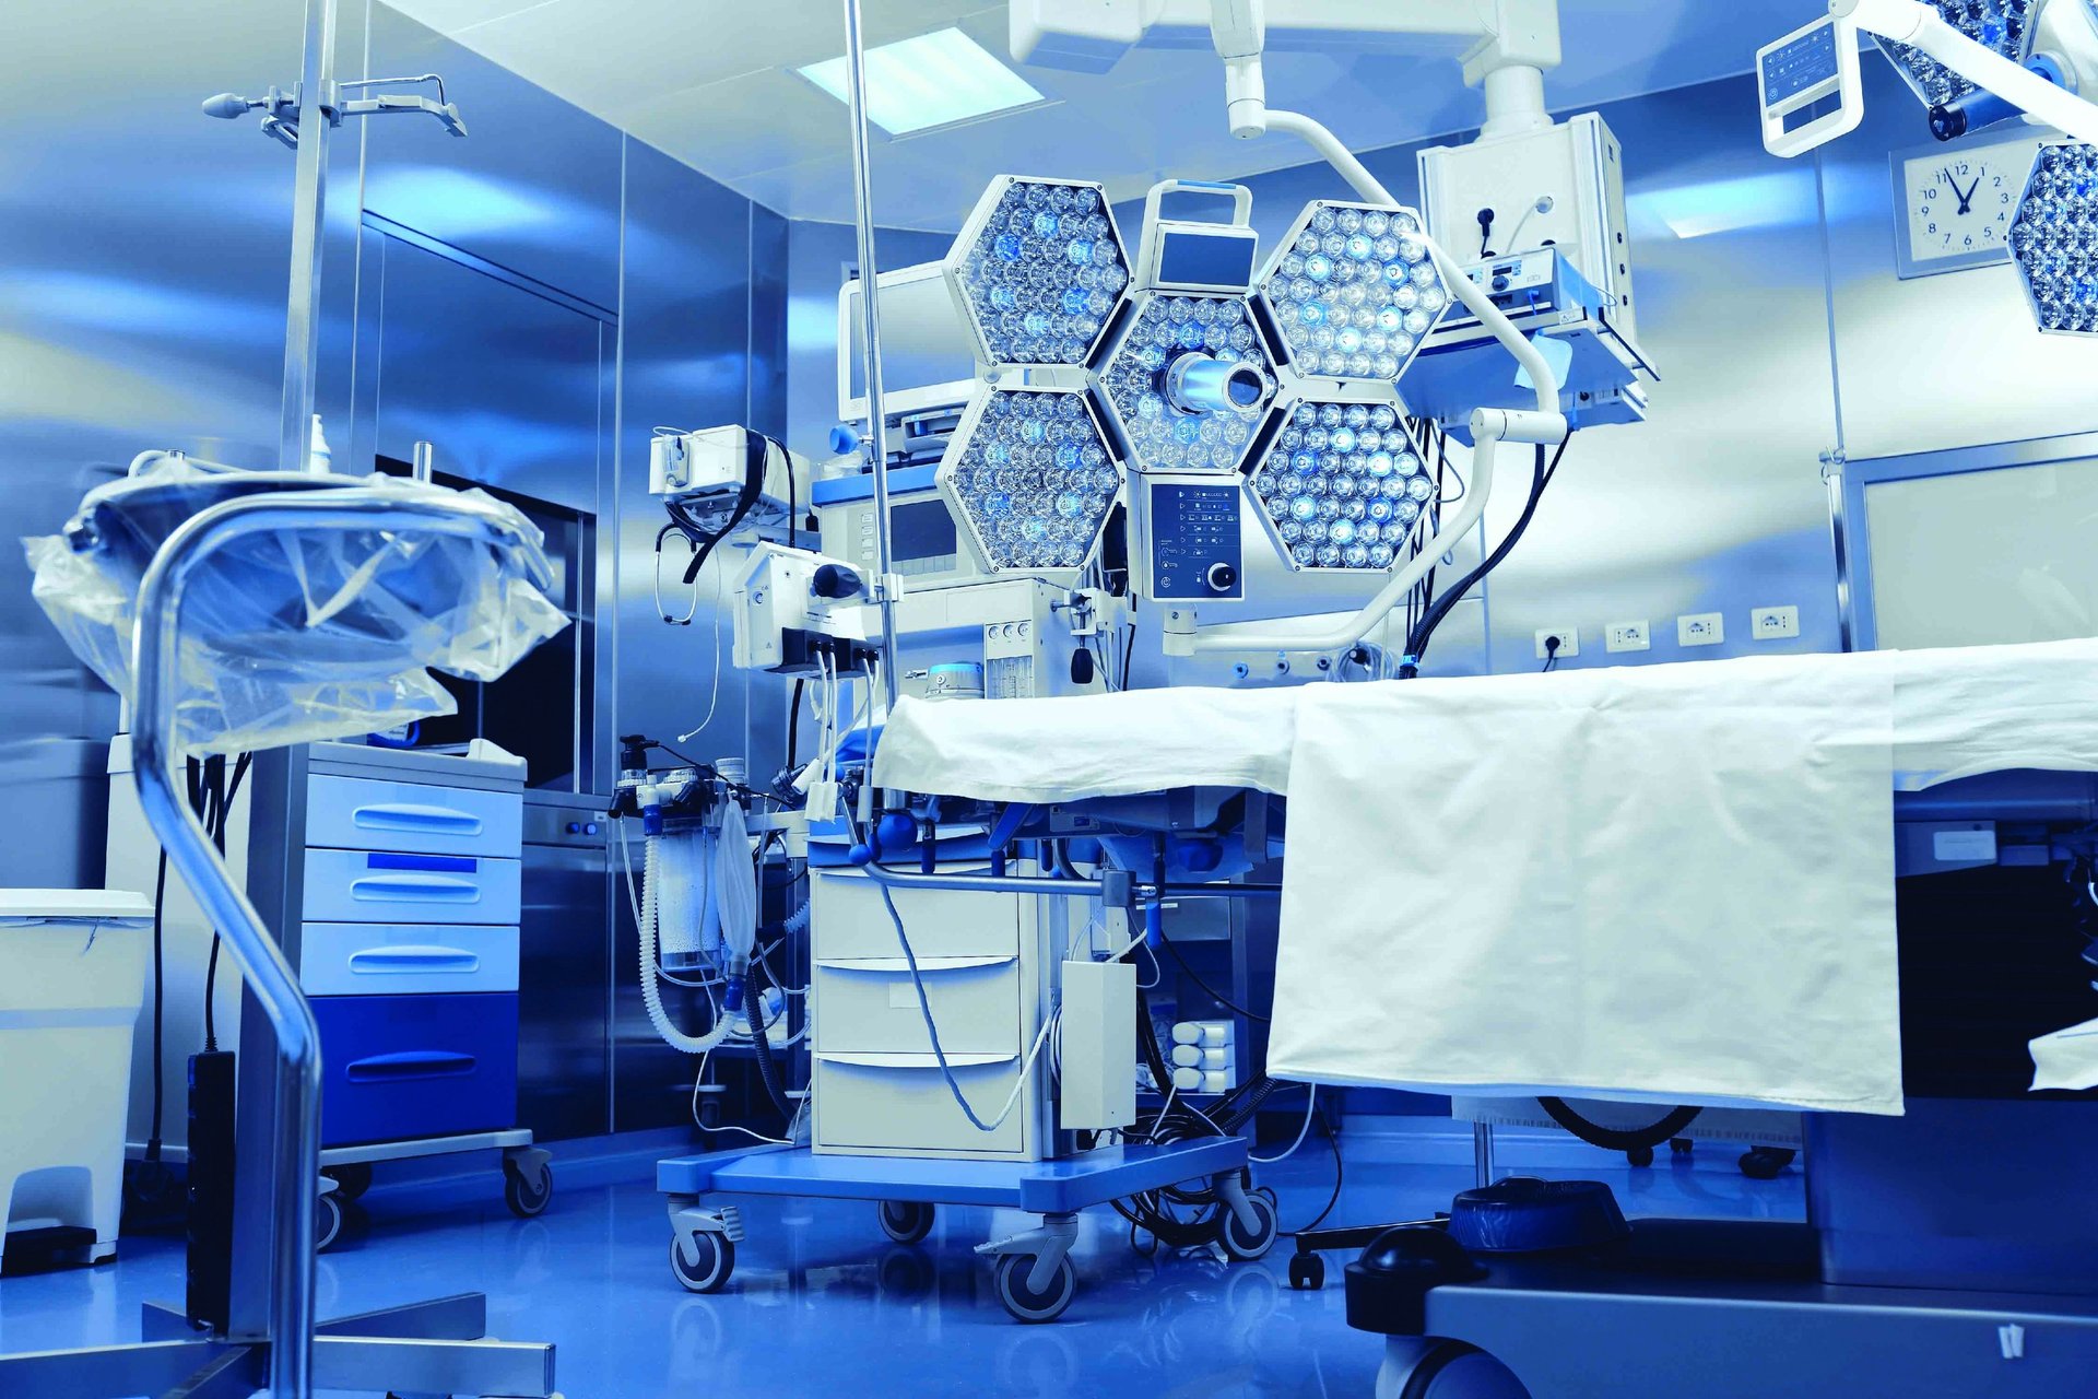
[[[1385,384],[1450,306],[1416,212],[1332,199],[1297,216],[1259,296],[1299,373]]]

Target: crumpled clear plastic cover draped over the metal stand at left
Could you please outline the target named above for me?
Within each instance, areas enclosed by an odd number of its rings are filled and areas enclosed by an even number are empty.
[[[63,535],[23,541],[36,600],[130,703],[138,585],[168,533],[233,495],[317,487],[462,495],[390,476],[208,472],[162,457],[90,491]],[[264,531],[218,550],[183,600],[176,749],[239,753],[455,713],[430,669],[495,680],[569,625],[529,581],[537,529],[512,514],[529,547],[359,529]]]

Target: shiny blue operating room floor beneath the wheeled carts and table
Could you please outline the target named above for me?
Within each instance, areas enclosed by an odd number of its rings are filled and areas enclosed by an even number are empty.
[[[1454,1143],[1452,1143],[1454,1145]],[[1800,1175],[1743,1179],[1737,1147],[1649,1170],[1586,1147],[1542,1160],[1502,1147],[1502,1170],[1607,1179],[1628,1214],[1798,1219]],[[1347,1191],[1330,1223],[1374,1223],[1448,1208],[1469,1166],[1364,1160],[1349,1149]],[[558,1166],[556,1166],[558,1170]],[[1263,1168],[1284,1229],[1332,1187],[1332,1160]],[[344,1240],[321,1256],[321,1313],[340,1315],[447,1292],[489,1294],[491,1332],[552,1340],[569,1399],[692,1395],[1261,1395],[1368,1399],[1380,1344],[1343,1319],[1341,1265],[1324,1292],[1290,1292],[1288,1242],[1257,1265],[1146,1261],[1108,1212],[1089,1214],[1078,1298],[1055,1326],[1015,1326],[990,1269],[971,1254],[1024,1217],[944,1208],[932,1237],[898,1248],[873,1206],[745,1200],[749,1240],[728,1290],[692,1296],[669,1273],[669,1229],[646,1179],[560,1187],[533,1221],[508,1214],[497,1177],[480,1189],[373,1189]],[[101,1344],[138,1336],[138,1305],[180,1298],[176,1240],[126,1240],[115,1265],[0,1279],[0,1351]],[[52,1397],[63,1399],[63,1397]]]

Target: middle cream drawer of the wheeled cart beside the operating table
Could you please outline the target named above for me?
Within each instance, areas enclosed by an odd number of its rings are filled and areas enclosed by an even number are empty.
[[[919,956],[940,1047],[957,1055],[1020,1051],[1018,956]],[[925,1011],[902,956],[820,959],[812,1017],[818,1053],[932,1053]]]

